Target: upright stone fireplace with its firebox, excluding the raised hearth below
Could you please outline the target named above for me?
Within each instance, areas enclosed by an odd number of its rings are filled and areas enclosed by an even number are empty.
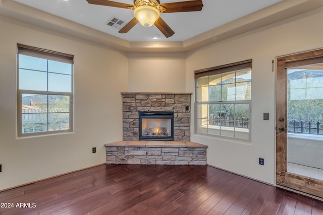
[[[190,141],[190,106],[192,93],[121,93],[123,100],[123,140]],[[140,114],[156,114],[159,120],[149,122]],[[165,120],[165,114],[171,121]],[[167,118],[166,117],[166,118]],[[144,119],[144,121],[142,121]],[[160,125],[152,125],[153,123]],[[169,124],[171,123],[171,124]],[[158,130],[157,130],[158,129]]]

